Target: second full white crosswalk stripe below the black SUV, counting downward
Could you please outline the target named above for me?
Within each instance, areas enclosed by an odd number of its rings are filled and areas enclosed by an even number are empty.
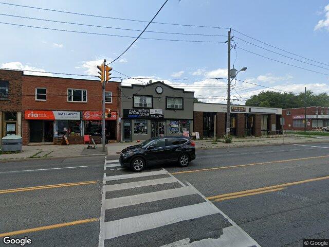
[[[138,182],[104,185],[103,192],[116,191],[116,190],[122,190],[122,189],[132,189],[132,188],[150,186],[150,185],[156,185],[156,184],[168,184],[168,183],[174,183],[174,182],[177,182],[177,180],[172,177],[169,177],[169,178],[163,178],[163,179],[151,179],[151,180],[144,180],[144,181],[138,181]]]

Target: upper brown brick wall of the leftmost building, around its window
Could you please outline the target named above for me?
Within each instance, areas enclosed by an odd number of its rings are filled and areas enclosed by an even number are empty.
[[[22,111],[22,79],[21,71],[0,69],[0,80],[9,81],[8,99],[0,99],[0,111]]]

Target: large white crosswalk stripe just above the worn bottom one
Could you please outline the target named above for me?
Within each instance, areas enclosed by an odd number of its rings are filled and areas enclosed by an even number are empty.
[[[138,215],[120,220],[105,222],[104,239],[111,239],[127,234],[137,233],[153,228],[192,220],[207,215],[217,214],[209,202],[198,203],[183,207],[176,207],[146,215]]]

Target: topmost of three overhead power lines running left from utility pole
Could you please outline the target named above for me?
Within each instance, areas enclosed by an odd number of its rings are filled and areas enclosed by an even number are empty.
[[[113,19],[113,20],[120,20],[120,21],[132,21],[132,22],[142,22],[142,23],[148,23],[149,22],[149,21],[142,21],[142,20],[124,19],[124,18],[118,18],[118,17],[95,15],[95,14],[85,14],[85,13],[78,13],[78,12],[69,12],[69,11],[56,10],[56,9],[46,9],[46,8],[39,8],[39,7],[27,6],[27,5],[9,4],[9,3],[4,3],[4,2],[0,2],[0,4],[11,5],[11,6],[15,6],[15,7],[30,8],[30,9],[47,10],[47,11],[53,11],[53,12],[66,13],[66,14],[76,14],[76,15],[92,16],[92,17],[99,17],[99,18]],[[163,24],[163,25],[184,26],[184,27],[203,27],[203,28],[215,28],[215,29],[221,29],[221,28],[222,29],[229,29],[228,27],[188,25],[188,24],[179,24],[179,23],[164,23],[164,22],[152,22],[152,23],[154,23],[154,24]]]

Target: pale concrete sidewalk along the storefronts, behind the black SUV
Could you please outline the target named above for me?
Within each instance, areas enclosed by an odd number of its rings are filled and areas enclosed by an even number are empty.
[[[226,144],[222,139],[217,139],[213,143],[212,139],[195,140],[197,149],[209,148],[232,148],[260,145],[282,145],[282,144],[299,144],[299,143],[320,143],[329,142],[329,137],[323,136],[282,136],[280,137],[246,137],[233,138],[232,143]],[[102,151],[102,145],[98,144],[96,149],[87,149],[87,145],[31,145],[23,146],[21,153],[0,154],[0,161],[30,158],[47,158],[47,157],[76,157],[87,155],[118,155],[121,150],[139,143],[111,143],[106,145],[106,152]]]

